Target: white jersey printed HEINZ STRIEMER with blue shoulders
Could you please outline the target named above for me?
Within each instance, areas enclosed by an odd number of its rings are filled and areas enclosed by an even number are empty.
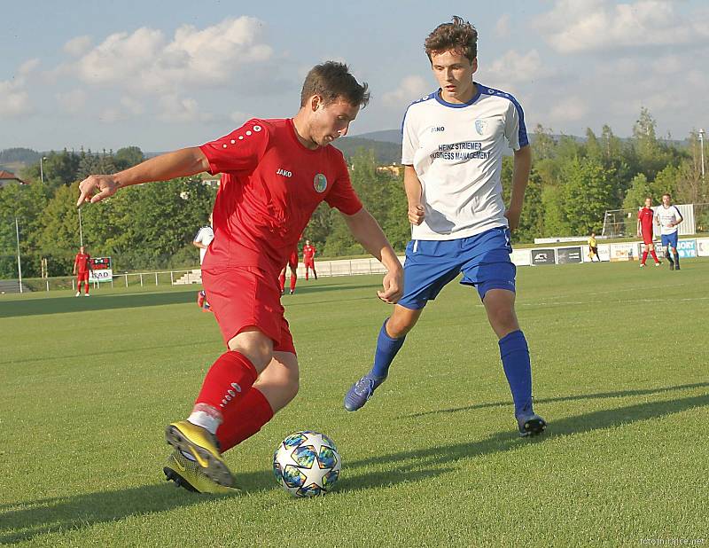
[[[515,151],[529,144],[524,114],[509,93],[476,85],[467,103],[448,103],[438,90],[404,114],[401,164],[416,170],[425,207],[412,239],[460,239],[508,226],[503,149],[505,141]]]

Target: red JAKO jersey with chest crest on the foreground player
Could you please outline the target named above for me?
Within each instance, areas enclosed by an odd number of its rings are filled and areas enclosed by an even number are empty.
[[[253,119],[199,148],[209,172],[224,174],[206,269],[251,266],[277,273],[321,201],[345,215],[362,208],[342,153],[332,145],[308,149],[290,119]]]

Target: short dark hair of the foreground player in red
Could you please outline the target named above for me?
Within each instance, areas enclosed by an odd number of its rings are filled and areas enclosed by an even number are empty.
[[[339,98],[353,106],[367,106],[370,92],[367,82],[360,84],[349,72],[349,67],[337,61],[326,61],[310,69],[300,92],[300,106],[306,106],[308,98],[319,95],[325,105],[334,103]]]

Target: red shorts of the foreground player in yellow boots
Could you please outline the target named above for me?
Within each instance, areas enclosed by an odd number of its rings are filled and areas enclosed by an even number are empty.
[[[202,269],[202,285],[225,344],[254,325],[273,341],[274,351],[295,354],[276,276],[255,267]]]

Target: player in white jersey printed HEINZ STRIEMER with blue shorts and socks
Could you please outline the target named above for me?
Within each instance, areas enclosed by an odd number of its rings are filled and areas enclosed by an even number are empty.
[[[474,82],[478,32],[454,17],[425,40],[440,89],[409,106],[401,164],[412,240],[404,263],[404,296],[379,332],[374,365],[345,396],[357,411],[386,380],[406,334],[428,301],[463,274],[474,286],[499,339],[522,436],[546,422],[532,408],[529,349],[515,315],[515,265],[510,230],[519,223],[532,155],[522,108],[509,93]],[[510,207],[501,184],[505,141],[514,150]]]

